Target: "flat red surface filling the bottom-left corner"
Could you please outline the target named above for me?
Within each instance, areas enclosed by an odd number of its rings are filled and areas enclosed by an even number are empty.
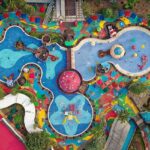
[[[0,150],[25,150],[24,144],[0,121]]]

